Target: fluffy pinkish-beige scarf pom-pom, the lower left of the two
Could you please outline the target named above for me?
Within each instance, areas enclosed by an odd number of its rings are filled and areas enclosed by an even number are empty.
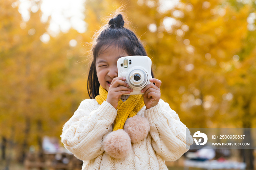
[[[111,157],[120,159],[131,151],[131,139],[123,130],[118,129],[108,134],[103,142],[103,149]]]

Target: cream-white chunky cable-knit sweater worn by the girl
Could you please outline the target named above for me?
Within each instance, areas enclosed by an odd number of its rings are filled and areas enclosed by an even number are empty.
[[[168,103],[160,99],[149,109],[144,106],[137,115],[150,123],[146,138],[132,143],[131,152],[121,159],[110,157],[102,143],[112,132],[117,110],[104,101],[83,100],[70,120],[65,123],[61,141],[78,159],[82,170],[167,170],[165,161],[175,161],[188,151],[193,143],[189,134],[186,148],[186,126]]]

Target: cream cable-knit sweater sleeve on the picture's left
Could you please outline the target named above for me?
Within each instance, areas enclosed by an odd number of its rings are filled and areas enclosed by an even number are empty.
[[[83,161],[94,159],[103,153],[103,140],[112,131],[116,115],[116,109],[107,101],[96,106],[92,99],[83,100],[65,123],[61,142],[77,158]]]

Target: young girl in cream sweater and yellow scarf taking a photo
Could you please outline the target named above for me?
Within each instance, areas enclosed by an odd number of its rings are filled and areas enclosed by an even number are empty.
[[[121,14],[94,36],[93,61],[88,76],[90,99],[85,99],[64,125],[61,141],[77,158],[82,170],[162,170],[193,143],[186,126],[161,98],[161,81],[154,78],[133,90],[118,77],[117,60],[147,55],[142,43],[123,27]],[[124,95],[126,94],[126,95]]]

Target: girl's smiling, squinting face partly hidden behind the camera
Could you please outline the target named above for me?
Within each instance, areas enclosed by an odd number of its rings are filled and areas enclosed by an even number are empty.
[[[118,77],[117,60],[125,56],[128,54],[124,50],[113,46],[103,49],[102,53],[98,55],[96,61],[97,77],[99,84],[107,91],[109,91],[113,78]]]

